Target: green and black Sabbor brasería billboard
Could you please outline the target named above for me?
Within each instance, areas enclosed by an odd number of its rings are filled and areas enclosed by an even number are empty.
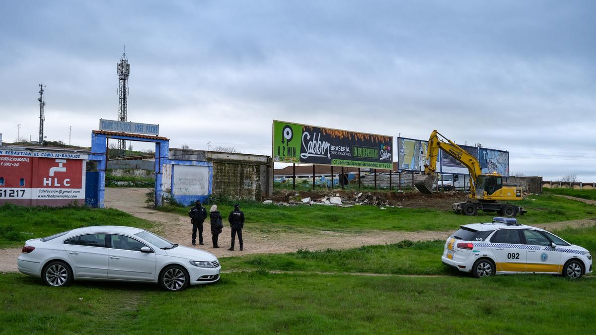
[[[273,121],[274,162],[393,168],[393,137]]]

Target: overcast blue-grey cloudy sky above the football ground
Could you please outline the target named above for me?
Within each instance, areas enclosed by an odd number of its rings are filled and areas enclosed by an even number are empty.
[[[510,151],[596,181],[594,1],[2,1],[0,133],[90,145],[117,119],[170,147],[271,154],[273,119]],[[147,148],[138,142],[135,149]],[[394,145],[395,147],[395,145]]]

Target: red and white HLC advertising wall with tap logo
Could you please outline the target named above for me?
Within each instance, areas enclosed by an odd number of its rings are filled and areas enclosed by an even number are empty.
[[[10,154],[0,154],[0,204],[85,203],[85,160],[39,157],[46,153],[6,152]]]

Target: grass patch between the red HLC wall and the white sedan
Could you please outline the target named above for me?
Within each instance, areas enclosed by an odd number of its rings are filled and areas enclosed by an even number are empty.
[[[89,207],[0,206],[0,248],[22,246],[30,238],[95,225],[125,225],[150,228],[151,224],[116,209]]]

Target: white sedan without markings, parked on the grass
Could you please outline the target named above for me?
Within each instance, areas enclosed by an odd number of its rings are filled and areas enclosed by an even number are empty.
[[[142,281],[179,291],[215,283],[221,266],[211,253],[178,246],[143,229],[95,226],[26,241],[18,270],[49,286],[73,280]]]

